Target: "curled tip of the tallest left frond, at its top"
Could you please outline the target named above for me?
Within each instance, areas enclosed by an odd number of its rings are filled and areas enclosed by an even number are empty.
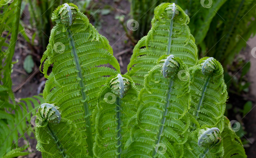
[[[76,19],[78,11],[79,9],[75,4],[64,3],[53,12],[52,21],[56,21],[57,24],[70,26]]]

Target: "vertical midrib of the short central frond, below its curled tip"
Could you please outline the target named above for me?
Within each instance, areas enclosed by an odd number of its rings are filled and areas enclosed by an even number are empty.
[[[117,130],[117,135],[116,135],[116,137],[117,137],[117,139],[118,139],[118,141],[117,141],[117,153],[119,153],[119,155],[117,156],[117,158],[121,158],[121,154],[120,154],[120,152],[121,152],[121,141],[120,141],[120,139],[121,139],[121,133],[120,133],[120,126],[121,126],[121,118],[120,118],[120,115],[121,115],[121,99],[119,98],[119,97],[117,97],[117,99],[116,99],[116,121],[117,121],[117,126],[116,126],[116,130]]]

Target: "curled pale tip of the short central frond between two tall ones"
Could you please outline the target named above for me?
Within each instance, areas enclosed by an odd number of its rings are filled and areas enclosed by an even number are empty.
[[[110,88],[111,91],[119,95],[120,98],[123,98],[127,90],[130,88],[130,80],[122,77],[121,74],[118,74],[117,77],[111,79]]]

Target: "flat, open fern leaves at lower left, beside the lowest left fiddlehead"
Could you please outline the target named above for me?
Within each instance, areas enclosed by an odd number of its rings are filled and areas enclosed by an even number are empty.
[[[18,139],[21,137],[26,140],[24,134],[27,133],[27,131],[31,131],[32,128],[28,126],[27,123],[30,122],[31,116],[36,114],[40,103],[44,103],[41,96],[24,98],[20,101],[21,102],[16,103],[15,109],[11,108],[10,111],[8,110],[9,105],[12,104],[9,103],[3,104],[3,106],[8,107],[8,109],[0,108],[0,157],[3,157],[5,154],[6,157],[8,157],[8,155],[11,156],[17,152],[21,153],[21,148],[18,150],[12,149],[19,147]],[[40,103],[38,103],[38,101]],[[14,110],[15,113],[12,113],[12,110]],[[15,145],[13,145],[13,142]]]

